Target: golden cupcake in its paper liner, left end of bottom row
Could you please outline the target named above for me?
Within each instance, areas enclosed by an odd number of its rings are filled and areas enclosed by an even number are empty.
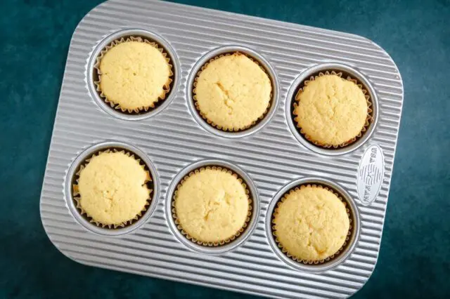
[[[94,155],[77,175],[77,208],[98,226],[123,227],[138,220],[150,204],[150,173],[124,151]]]

